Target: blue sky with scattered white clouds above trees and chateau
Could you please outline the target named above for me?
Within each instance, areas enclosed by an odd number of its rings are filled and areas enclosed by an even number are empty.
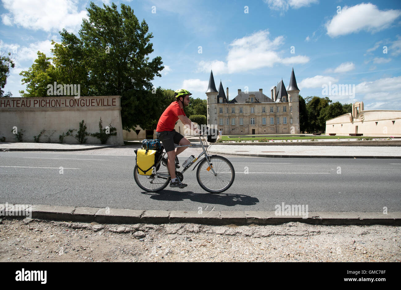
[[[103,2],[93,1],[98,6]],[[52,56],[59,31],[80,29],[90,1],[1,0],[0,50],[13,52],[5,91],[20,96],[19,72],[40,50]],[[300,94],[342,103],[363,101],[365,110],[401,110],[401,1],[328,0],[131,0],[152,32],[154,52],[165,69],[154,85],[185,88],[205,99],[213,69],[216,87],[270,96],[292,67]],[[349,85],[346,92],[333,92]],[[328,90],[324,91],[322,86]],[[355,92],[355,94],[352,94]]]

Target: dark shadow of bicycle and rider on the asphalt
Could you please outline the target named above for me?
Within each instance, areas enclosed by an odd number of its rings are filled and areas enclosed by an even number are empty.
[[[162,190],[161,192],[141,192],[142,194],[150,195],[150,198],[158,201],[183,201],[191,200],[193,202],[201,202],[206,204],[221,204],[225,206],[235,205],[255,205],[259,202],[258,198],[245,195],[245,194],[198,194],[192,191],[175,191],[175,190]]]

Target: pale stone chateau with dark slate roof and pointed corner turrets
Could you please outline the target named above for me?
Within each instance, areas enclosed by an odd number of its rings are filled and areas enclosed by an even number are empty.
[[[286,90],[283,80],[271,90],[270,97],[263,89],[255,92],[238,90],[229,101],[220,81],[216,89],[213,72],[207,88],[207,123],[223,131],[224,135],[298,134],[299,92],[294,68]]]

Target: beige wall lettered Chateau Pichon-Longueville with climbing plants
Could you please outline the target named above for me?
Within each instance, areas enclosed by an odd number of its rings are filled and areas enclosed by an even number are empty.
[[[73,134],[77,134],[82,120],[88,133],[99,132],[101,118],[103,128],[111,123],[117,129],[117,135],[110,136],[107,144],[123,145],[120,99],[121,96],[0,98],[0,138],[18,142],[14,133],[22,130],[22,141],[34,142],[34,136],[45,130],[40,141],[58,143],[59,135],[69,129],[75,129]],[[87,143],[100,143],[90,135],[86,138]],[[68,136],[63,142],[77,140]]]

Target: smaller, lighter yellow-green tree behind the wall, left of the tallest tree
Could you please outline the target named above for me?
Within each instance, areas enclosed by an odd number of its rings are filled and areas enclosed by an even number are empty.
[[[22,97],[45,97],[47,96],[47,85],[57,82],[57,70],[51,64],[51,57],[38,51],[38,58],[27,71],[21,71],[23,76],[21,82],[26,84],[26,92],[20,90]]]

